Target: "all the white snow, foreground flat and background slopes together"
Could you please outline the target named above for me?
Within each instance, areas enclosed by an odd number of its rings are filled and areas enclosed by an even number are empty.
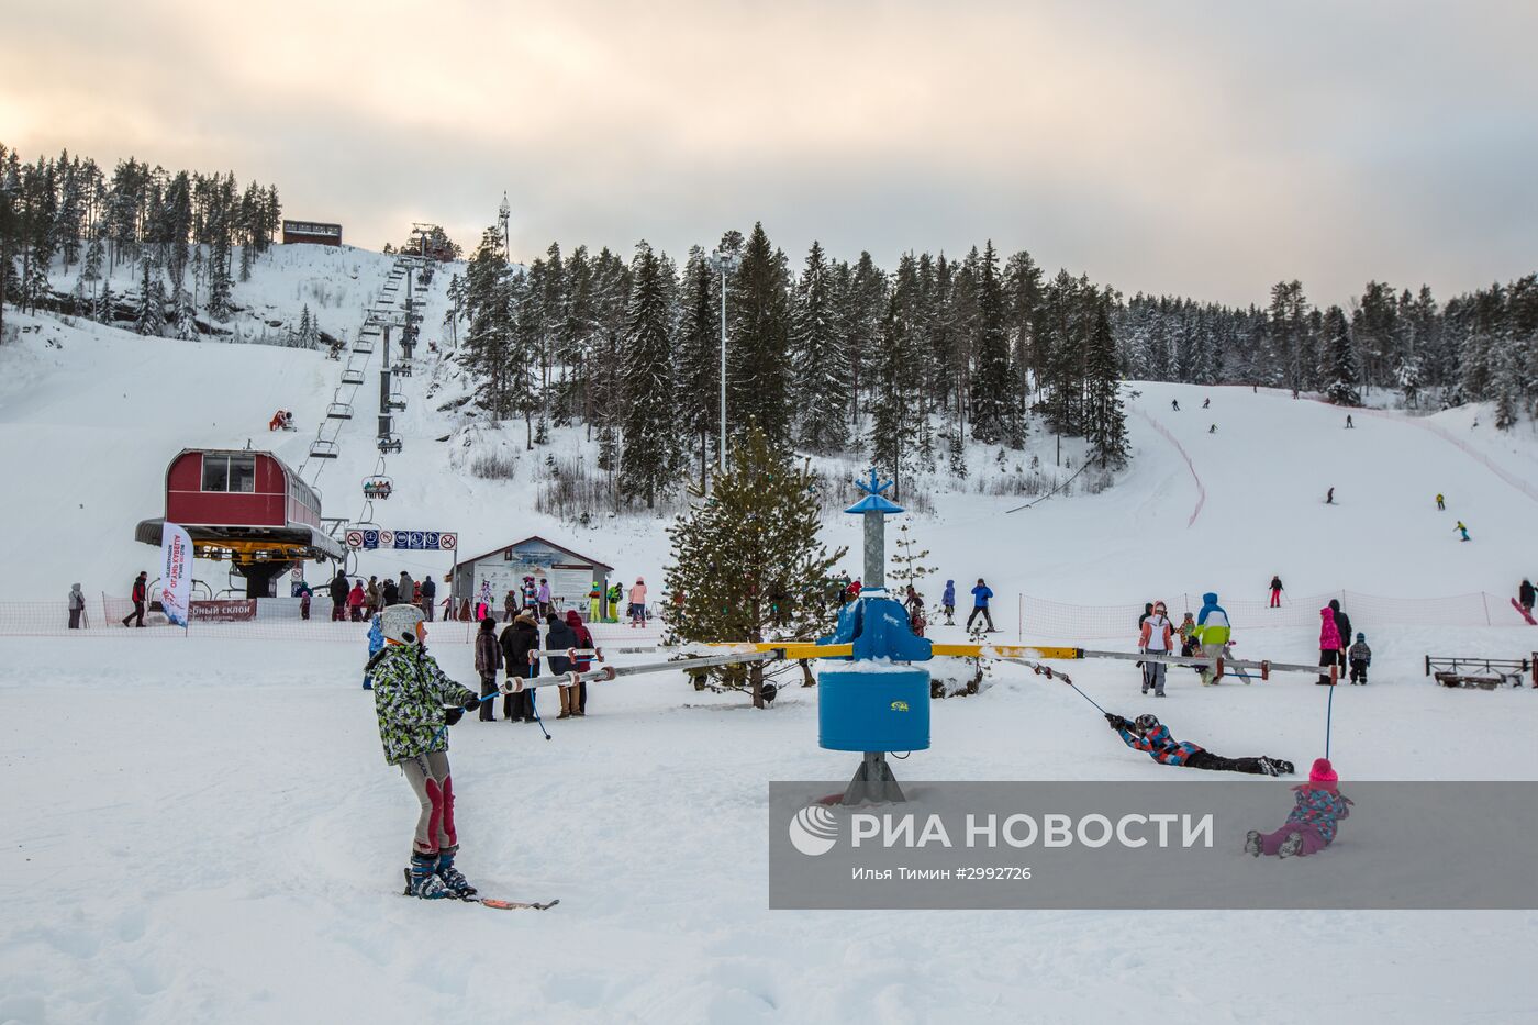
[[[349,337],[389,266],[358,251],[280,249],[272,262],[237,299],[289,319],[311,295],[323,326]],[[346,297],[323,302],[317,275]],[[444,282],[428,297],[429,337]],[[317,352],[12,319],[32,328],[0,351],[12,599],[62,600],[74,580],[122,594],[154,565],[132,528],[161,511],[169,459],[251,439],[300,465],[340,369]],[[168,406],[178,379],[185,399]],[[495,431],[463,429],[438,408],[461,385],[432,359],[403,386],[406,449],[388,460],[397,489],[375,503],[377,522],[457,529],[466,554],[541,534],[615,563],[624,580],[660,577],[666,520],[578,526],[535,512],[543,451],[520,456],[511,480],[468,472],[480,452],[520,451],[521,423],[503,431],[504,446]],[[1346,431],[1341,409],[1280,391],[1132,389],[1137,459],[1114,488],[1018,512],[1006,509],[1027,499],[932,496],[935,516],[912,522],[940,568],[930,599],[946,577],[964,594],[986,576],[1014,636],[1021,593],[1078,605],[1206,589],[1257,600],[1275,573],[1290,596],[1432,599],[1504,596],[1538,576],[1530,425],[1498,434],[1470,408],[1358,412]],[[266,432],[280,406],[295,411],[297,434]],[[331,516],[361,509],[358,482],[377,463],[368,409],[320,471]],[[552,449],[591,457],[575,429],[557,431]],[[1032,454],[1050,465],[1054,439],[1032,437],[1004,471],[974,448],[972,479],[1029,466]],[[1453,533],[1460,517],[1470,543]],[[858,571],[857,525],[835,522],[827,536],[852,548]],[[448,569],[384,556],[360,566],[400,568]],[[198,576],[223,585],[217,566],[198,563]],[[1538,629],[1500,602],[1490,622],[1370,625],[1373,683],[1335,702],[1346,793],[1353,779],[1538,780],[1538,693],[1449,691],[1421,673],[1427,653],[1538,648]],[[1246,657],[1315,660],[1312,629],[1253,616],[1237,628]],[[1072,622],[1054,631],[1026,626],[1041,642],[1094,636]],[[1129,620],[1126,637],[1100,646],[1130,643]],[[472,677],[466,645],[437,651]],[[486,893],[561,906],[501,914],[400,899],[415,805],[383,763],[360,660],[361,640],[0,637],[0,822],[12,837],[0,854],[0,1022],[1098,1022],[1129,1008],[1204,1022],[1538,1020],[1538,990],[1521,973],[1532,913],[771,913],[767,782],[843,780],[854,768],[817,748],[815,691],[795,686],[764,713],[681,676],[595,686],[589,717],[551,722],[548,743],[528,725],[455,726],[461,866]],[[1101,703],[1144,709],[1129,665],[1067,668]],[[1300,765],[1323,753],[1326,693],[1307,677],[1217,689],[1187,671],[1170,679],[1157,711],[1180,736]],[[903,763],[907,779],[1178,773],[1127,751],[1072,689],[1012,666],[934,713],[934,748]],[[1281,786],[1257,780],[1258,794]],[[1432,842],[1449,843],[1456,870],[1456,839]],[[1327,856],[1370,854],[1352,850],[1346,823]]]

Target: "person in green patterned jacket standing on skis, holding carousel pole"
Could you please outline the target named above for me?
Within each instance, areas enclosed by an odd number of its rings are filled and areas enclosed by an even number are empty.
[[[474,897],[475,886],[454,868],[460,848],[446,726],[478,708],[480,697],[444,676],[428,654],[420,608],[391,605],[380,613],[380,629],[384,649],[369,659],[380,743],[384,760],[400,766],[421,805],[406,868],[406,896]]]

